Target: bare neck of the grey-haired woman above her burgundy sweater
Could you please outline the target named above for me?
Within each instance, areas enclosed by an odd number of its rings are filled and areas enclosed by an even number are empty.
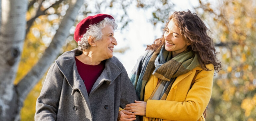
[[[89,49],[83,50],[83,54],[76,56],[76,59],[87,65],[98,65],[103,61],[103,59]]]

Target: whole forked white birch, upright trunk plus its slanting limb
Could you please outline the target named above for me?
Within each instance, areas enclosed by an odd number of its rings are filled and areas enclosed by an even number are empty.
[[[59,29],[42,58],[14,85],[26,32],[27,0],[3,0],[0,33],[0,120],[20,120],[20,109],[64,45],[83,0],[70,0]]]

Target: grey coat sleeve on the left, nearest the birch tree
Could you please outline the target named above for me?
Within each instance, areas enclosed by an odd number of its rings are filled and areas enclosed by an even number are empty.
[[[59,100],[64,75],[54,63],[46,76],[41,93],[36,102],[35,121],[55,121],[59,107]]]

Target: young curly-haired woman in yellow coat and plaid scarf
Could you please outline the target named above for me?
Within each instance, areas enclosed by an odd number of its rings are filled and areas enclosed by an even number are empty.
[[[124,109],[143,121],[204,121],[214,70],[221,68],[208,31],[190,11],[169,16],[162,38],[147,47],[130,76],[141,101]]]

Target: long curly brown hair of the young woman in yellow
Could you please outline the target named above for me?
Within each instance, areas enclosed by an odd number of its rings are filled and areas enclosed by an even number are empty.
[[[217,72],[221,70],[221,62],[216,57],[218,53],[214,48],[212,38],[208,36],[211,31],[204,25],[203,21],[190,10],[187,12],[176,11],[167,19],[163,29],[164,33],[171,19],[180,28],[181,35],[191,43],[188,48],[197,54],[202,69],[209,71],[206,64],[213,64]],[[156,39],[152,45],[147,45],[146,50],[156,50],[163,45],[165,45],[164,34],[161,38]]]

